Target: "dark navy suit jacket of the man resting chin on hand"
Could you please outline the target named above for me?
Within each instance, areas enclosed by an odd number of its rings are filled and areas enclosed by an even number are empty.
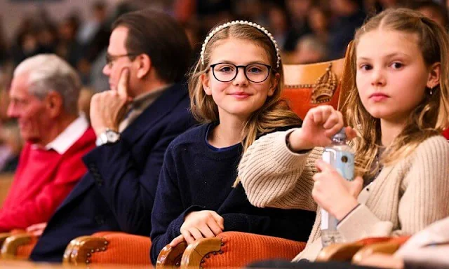
[[[122,132],[119,142],[86,154],[88,172],[48,221],[30,258],[60,262],[70,240],[103,230],[149,236],[163,155],[194,123],[187,89],[175,84]]]

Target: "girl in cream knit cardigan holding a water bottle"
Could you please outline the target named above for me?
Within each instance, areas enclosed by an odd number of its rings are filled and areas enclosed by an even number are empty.
[[[319,208],[340,221],[349,242],[413,235],[449,216],[449,143],[440,135],[449,118],[448,51],[444,29],[408,9],[384,11],[358,29],[344,109],[354,127],[347,127],[355,137],[354,181],[321,161],[322,147],[343,126],[330,106],[246,151],[239,179],[253,205],[317,212],[295,260],[314,260],[321,250]]]

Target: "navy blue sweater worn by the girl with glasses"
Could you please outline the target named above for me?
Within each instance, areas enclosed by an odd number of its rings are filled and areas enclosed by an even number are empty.
[[[251,205],[241,184],[232,187],[243,148],[237,144],[214,149],[206,139],[213,127],[213,123],[195,127],[167,148],[152,210],[154,264],[161,249],[180,235],[185,215],[194,211],[217,212],[225,220],[225,231],[307,241],[315,212]]]

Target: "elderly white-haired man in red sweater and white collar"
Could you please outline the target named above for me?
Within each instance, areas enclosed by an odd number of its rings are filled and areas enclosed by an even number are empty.
[[[81,82],[56,55],[36,55],[14,71],[8,116],[17,118],[25,146],[0,209],[0,232],[48,221],[86,173],[81,157],[95,132],[79,116]]]

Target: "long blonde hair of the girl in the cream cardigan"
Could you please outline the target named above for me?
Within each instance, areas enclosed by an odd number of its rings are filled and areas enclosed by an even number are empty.
[[[366,111],[356,87],[356,47],[363,34],[376,29],[388,29],[403,33],[416,34],[418,47],[427,67],[441,63],[439,84],[434,89],[427,89],[422,102],[410,113],[406,126],[384,151],[378,165],[391,165],[410,155],[425,139],[438,135],[448,126],[449,91],[448,91],[448,51],[449,41],[444,29],[436,22],[416,11],[406,8],[387,9],[375,15],[356,31],[351,57],[351,89],[344,104],[347,123],[358,129],[356,139],[356,174],[373,177],[375,170],[370,170],[377,156],[377,142],[381,139],[380,119],[374,118]],[[432,92],[432,93],[430,93]]]

